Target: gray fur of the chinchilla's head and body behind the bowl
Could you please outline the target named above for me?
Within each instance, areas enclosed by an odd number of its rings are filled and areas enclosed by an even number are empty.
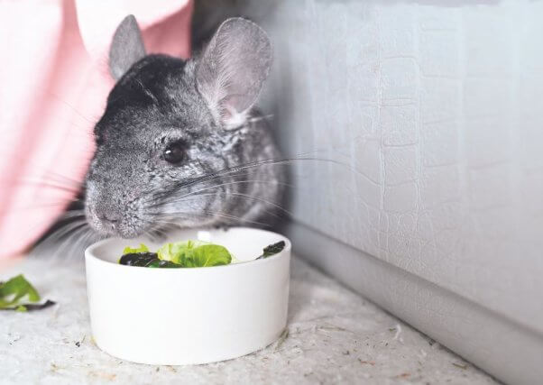
[[[127,69],[95,128],[88,223],[126,238],[169,225],[272,224],[283,166],[244,167],[281,158],[269,127],[252,110],[271,61],[265,32],[236,18],[192,60],[149,55]],[[187,157],[172,165],[162,154],[178,141],[186,143]]]

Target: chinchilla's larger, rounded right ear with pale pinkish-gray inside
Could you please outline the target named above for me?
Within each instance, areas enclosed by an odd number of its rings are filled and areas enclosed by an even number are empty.
[[[244,124],[272,66],[266,32],[249,20],[220,25],[197,62],[197,86],[226,129]]]

